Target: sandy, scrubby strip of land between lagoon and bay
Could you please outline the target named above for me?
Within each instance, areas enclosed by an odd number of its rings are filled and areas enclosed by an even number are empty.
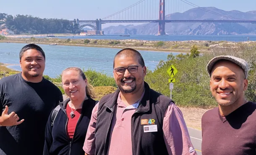
[[[137,39],[63,39],[55,37],[35,38],[18,38],[4,37],[0,43],[23,43],[23,44],[47,44],[51,46],[84,46],[97,48],[124,49],[132,48],[141,51],[152,52],[174,52],[190,53],[193,46],[196,46],[202,54],[210,52],[215,48],[238,48],[241,46],[256,46],[256,41],[146,41]]]

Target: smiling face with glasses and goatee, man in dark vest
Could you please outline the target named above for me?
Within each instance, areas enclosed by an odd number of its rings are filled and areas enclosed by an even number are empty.
[[[124,74],[118,75],[117,71],[120,67],[128,68],[129,66],[138,66],[135,73],[130,73],[128,69]],[[141,66],[138,58],[126,55],[120,55],[115,58],[116,70],[113,71],[115,82],[122,93],[136,93],[144,85],[144,77],[146,75],[146,67]],[[130,71],[136,70],[137,67],[130,67]]]

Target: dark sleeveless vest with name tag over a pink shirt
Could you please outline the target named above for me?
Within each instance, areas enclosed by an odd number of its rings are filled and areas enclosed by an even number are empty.
[[[165,111],[172,100],[150,89],[146,82],[144,85],[144,96],[131,118],[133,155],[168,155],[162,127]],[[110,143],[110,127],[119,92],[120,90],[117,89],[115,93],[102,97],[99,102],[95,129],[95,155],[107,154]],[[154,123],[148,123],[148,119],[154,119]],[[146,124],[142,123],[145,120]],[[145,125],[154,125],[157,127],[157,132],[144,132]]]

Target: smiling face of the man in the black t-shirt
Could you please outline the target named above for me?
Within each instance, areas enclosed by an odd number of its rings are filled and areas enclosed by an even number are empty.
[[[43,76],[45,59],[36,49],[28,49],[23,53],[20,65],[22,74],[27,78]]]

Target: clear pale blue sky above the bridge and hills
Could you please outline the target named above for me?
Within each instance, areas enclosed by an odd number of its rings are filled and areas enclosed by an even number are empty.
[[[138,1],[139,0],[5,0],[4,3],[0,5],[0,12],[11,15],[27,14],[40,18],[63,18],[68,20],[78,18],[79,20],[95,20],[116,13]],[[242,12],[256,10],[256,0],[188,1],[200,7],[212,6],[222,10],[240,10]],[[157,2],[159,2],[159,0],[156,0],[156,3]]]

